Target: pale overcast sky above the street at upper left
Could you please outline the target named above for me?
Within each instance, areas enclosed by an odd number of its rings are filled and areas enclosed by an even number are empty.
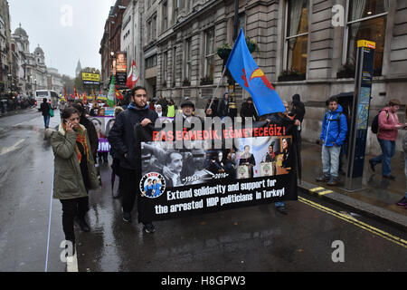
[[[45,63],[71,77],[82,68],[100,69],[100,41],[116,0],[9,0],[11,31],[21,23],[30,52],[40,47]]]

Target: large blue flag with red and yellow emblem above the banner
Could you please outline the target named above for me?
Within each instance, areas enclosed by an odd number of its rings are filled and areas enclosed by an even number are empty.
[[[226,66],[234,80],[251,94],[259,116],[286,111],[279,94],[251,57],[242,28]]]

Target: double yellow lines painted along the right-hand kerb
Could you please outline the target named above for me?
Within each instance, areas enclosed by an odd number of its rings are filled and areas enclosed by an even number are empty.
[[[298,197],[298,200],[310,207],[317,208],[321,211],[324,211],[331,216],[334,216],[336,218],[341,218],[341,219],[347,221],[348,223],[355,225],[356,227],[361,227],[361,228],[373,233],[376,236],[384,237],[385,239],[393,242],[394,244],[407,248],[407,241],[402,239],[401,237],[393,236],[392,234],[389,234],[377,227],[372,227],[370,225],[367,225],[366,223],[364,223],[360,220],[357,220],[356,218],[354,218],[352,216],[337,212],[336,210],[331,209],[331,208],[326,208],[326,207],[321,206],[320,204],[317,204],[306,198]]]

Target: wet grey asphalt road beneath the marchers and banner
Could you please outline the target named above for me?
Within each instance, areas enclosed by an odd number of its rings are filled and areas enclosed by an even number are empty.
[[[52,160],[36,111],[0,119],[0,271],[45,269]],[[324,204],[332,208],[328,213],[317,199],[288,202],[288,216],[262,205],[160,221],[149,235],[137,221],[123,222],[120,200],[111,198],[109,165],[100,172],[103,187],[90,192],[92,230],[77,231],[83,272],[407,271],[406,247],[333,214],[343,208]],[[356,218],[407,240],[405,231]],[[65,271],[62,240],[62,208],[53,200],[48,271]],[[334,263],[332,243],[338,240],[345,262]]]

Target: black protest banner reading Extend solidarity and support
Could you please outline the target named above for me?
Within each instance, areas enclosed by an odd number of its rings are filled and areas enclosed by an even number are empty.
[[[163,135],[166,134],[166,141]],[[172,136],[170,136],[172,135]],[[154,131],[140,146],[140,220],[163,220],[218,210],[297,200],[295,147],[284,126],[222,131]],[[222,149],[203,146],[209,136]],[[225,140],[233,139],[231,149]],[[169,140],[188,140],[175,149]]]

